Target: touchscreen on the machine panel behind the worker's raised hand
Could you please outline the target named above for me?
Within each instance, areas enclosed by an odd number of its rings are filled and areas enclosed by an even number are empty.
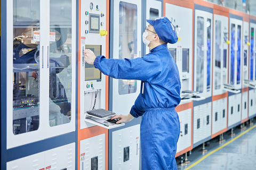
[[[91,49],[95,56],[101,55],[101,45],[85,45],[86,49]],[[101,72],[95,69],[93,64],[85,63],[85,81],[87,80],[100,80]]]

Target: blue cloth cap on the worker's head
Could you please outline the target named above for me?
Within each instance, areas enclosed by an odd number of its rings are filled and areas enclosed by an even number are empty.
[[[178,37],[174,25],[167,17],[163,16],[155,20],[147,20],[147,22],[153,25],[157,35],[165,41],[165,43],[177,43]]]

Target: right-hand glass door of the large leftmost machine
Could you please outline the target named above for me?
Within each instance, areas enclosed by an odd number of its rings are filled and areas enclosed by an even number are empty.
[[[62,7],[60,7],[62,6]],[[72,3],[50,0],[50,47],[47,46],[49,73],[49,125],[71,120],[72,84]]]

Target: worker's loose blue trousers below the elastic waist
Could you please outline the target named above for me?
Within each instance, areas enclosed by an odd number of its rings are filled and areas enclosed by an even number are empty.
[[[143,170],[177,169],[180,121],[175,108],[146,109],[140,135]]]

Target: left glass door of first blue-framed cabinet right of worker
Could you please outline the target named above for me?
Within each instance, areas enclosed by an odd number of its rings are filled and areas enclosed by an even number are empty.
[[[197,16],[196,29],[196,91],[204,91],[204,18]]]

